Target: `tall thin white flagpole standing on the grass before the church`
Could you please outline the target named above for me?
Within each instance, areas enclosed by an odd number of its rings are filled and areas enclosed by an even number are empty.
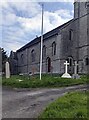
[[[43,48],[43,4],[42,4],[42,26],[41,26],[40,80],[42,73],[42,48]]]

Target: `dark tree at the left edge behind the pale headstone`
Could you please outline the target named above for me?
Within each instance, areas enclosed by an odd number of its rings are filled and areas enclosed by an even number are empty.
[[[8,56],[4,48],[0,48],[0,64],[2,64],[2,72],[5,72],[5,63],[8,60]],[[0,65],[1,67],[1,65]]]

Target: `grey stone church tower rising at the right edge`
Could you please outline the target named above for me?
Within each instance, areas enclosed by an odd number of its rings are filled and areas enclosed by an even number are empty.
[[[89,0],[74,2],[74,19],[77,20],[77,61],[79,72],[87,73],[89,68]]]

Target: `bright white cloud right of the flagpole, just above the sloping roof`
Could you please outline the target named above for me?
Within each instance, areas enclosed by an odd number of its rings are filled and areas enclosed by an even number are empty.
[[[64,15],[63,15],[62,11],[65,12]],[[62,9],[60,9],[59,11],[55,11],[55,12],[45,12],[45,14],[44,14],[44,26],[46,26],[45,31],[48,32],[49,30],[51,30],[57,26],[60,26],[63,23],[72,19],[72,16],[68,15],[67,12],[68,12],[68,10],[62,10]],[[66,17],[65,17],[65,15],[66,15]]]

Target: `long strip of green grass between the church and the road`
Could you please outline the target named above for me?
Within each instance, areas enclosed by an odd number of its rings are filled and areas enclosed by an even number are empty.
[[[19,80],[23,80],[20,81]],[[0,82],[1,83],[1,82]],[[9,79],[2,77],[3,86],[11,86],[17,88],[40,88],[40,87],[65,87],[79,84],[89,83],[89,76],[83,75],[80,79],[67,79],[61,78],[58,75],[42,75],[42,80],[39,80],[39,76],[31,76],[30,79],[27,76],[14,75]]]

